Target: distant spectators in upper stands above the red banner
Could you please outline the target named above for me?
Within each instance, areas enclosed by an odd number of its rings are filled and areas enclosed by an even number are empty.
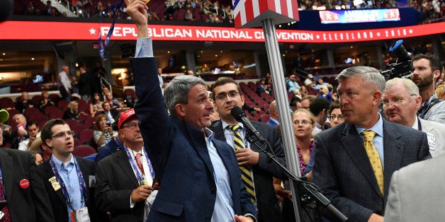
[[[164,7],[151,5],[148,10],[149,20],[165,20],[165,21],[203,21],[206,23],[233,23],[233,8],[231,1],[215,0],[166,0]],[[72,1],[84,13],[92,18],[130,18],[125,13],[125,6],[118,7],[118,4],[102,1],[76,0]],[[116,8],[117,7],[117,8]],[[409,1],[407,5],[399,5],[398,1],[393,0],[376,0],[363,1],[362,4],[353,4],[352,1],[298,1],[298,8],[302,10],[325,10],[334,9],[360,9],[360,8],[398,8],[412,7],[417,9],[417,21],[422,23],[436,23],[444,20],[445,1],[444,0],[415,0]],[[153,10],[153,8],[155,10]],[[159,10],[157,10],[159,8]],[[179,13],[179,11],[184,11]],[[196,11],[196,12],[195,12]],[[23,15],[45,15],[45,16],[67,16],[66,13],[60,13],[51,6],[51,1],[47,1],[44,9],[34,6],[33,1],[29,1],[28,5],[22,10]],[[177,18],[181,16],[181,18]]]

